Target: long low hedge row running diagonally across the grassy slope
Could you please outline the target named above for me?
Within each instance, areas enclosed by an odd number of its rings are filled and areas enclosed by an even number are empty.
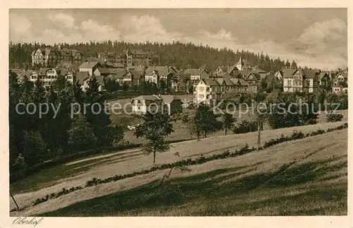
[[[344,128],[347,128],[347,127],[348,127],[348,124],[345,123],[344,125],[340,125],[339,127],[329,128],[327,130],[327,132],[333,132],[335,130],[344,129]],[[311,136],[315,136],[315,135],[318,135],[318,134],[325,134],[325,133],[326,133],[325,130],[322,130],[322,129],[318,129],[317,131],[311,132],[311,133],[308,133],[308,134],[303,134],[301,131],[297,132],[297,131],[294,130],[294,132],[292,133],[292,135],[290,137],[285,137],[282,134],[279,139],[270,139],[270,141],[265,141],[263,148],[267,148],[267,147],[273,146],[275,144],[280,144],[280,143],[285,142],[285,141],[303,139],[303,138],[306,138],[306,137],[311,137]],[[224,153],[214,154],[213,156],[209,156],[209,157],[201,156],[201,157],[196,158],[196,159],[188,158],[186,160],[179,160],[179,161],[174,162],[174,163],[157,165],[157,166],[154,166],[154,167],[150,168],[149,170],[142,170],[142,171],[139,171],[139,172],[132,172],[132,173],[126,174],[126,175],[115,175],[114,177],[108,177],[106,179],[99,179],[99,178],[94,177],[94,178],[92,178],[92,179],[90,179],[90,180],[88,180],[86,182],[85,187],[96,186],[98,184],[104,184],[104,183],[109,183],[109,182],[116,182],[116,181],[118,181],[120,179],[125,179],[125,178],[128,178],[128,177],[135,177],[137,175],[145,175],[145,174],[148,174],[150,172],[157,171],[157,170],[166,170],[166,169],[169,169],[169,168],[182,167],[182,166],[185,166],[185,165],[199,165],[199,164],[207,163],[208,161],[211,161],[211,160],[219,160],[219,159],[224,159],[224,158],[241,156],[241,155],[244,155],[246,153],[253,152],[253,151],[256,151],[256,148],[254,148],[254,147],[249,148],[248,144],[246,144],[243,148],[240,148],[239,150],[236,150],[233,153],[230,153],[229,151],[225,151]],[[51,198],[58,198],[59,196],[62,196],[64,194],[68,194],[68,193],[70,193],[72,191],[76,191],[76,190],[79,190],[79,189],[83,189],[83,187],[82,186],[76,186],[76,187],[73,187],[71,189],[63,189],[63,190],[59,191],[56,194],[47,195],[44,198],[37,198],[35,201],[33,201],[33,205],[37,205],[39,203],[43,203],[45,201],[48,201]]]

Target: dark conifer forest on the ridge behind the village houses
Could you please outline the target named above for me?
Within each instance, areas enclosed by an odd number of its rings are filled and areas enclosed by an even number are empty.
[[[54,44],[58,46],[59,44]],[[10,68],[29,68],[31,65],[30,54],[39,47],[45,47],[44,44],[9,44],[9,63]],[[155,56],[156,65],[174,65],[179,68],[201,68],[207,67],[209,70],[215,70],[218,66],[234,65],[242,56],[253,65],[257,65],[262,70],[277,71],[282,68],[295,68],[295,61],[284,61],[280,58],[270,58],[268,54],[253,53],[250,51],[231,49],[215,49],[208,45],[201,46],[192,43],[184,44],[181,42],[172,42],[171,44],[151,43],[126,43],[126,42],[90,42],[76,44],[60,44],[62,48],[77,49],[83,53],[85,58],[97,56],[97,53],[103,51],[115,51],[121,53],[124,49],[140,49],[149,51]]]

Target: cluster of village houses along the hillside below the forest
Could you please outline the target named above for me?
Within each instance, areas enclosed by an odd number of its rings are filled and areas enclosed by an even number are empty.
[[[121,91],[124,94],[133,91],[141,95],[149,95],[140,89],[148,84],[162,93],[193,94],[193,103],[208,105],[213,100],[274,90],[315,93],[323,89],[334,94],[347,94],[348,91],[348,69],[325,71],[286,63],[283,69],[266,71],[242,56],[234,60],[234,65],[222,65],[215,70],[208,70],[205,65],[186,69],[152,65],[156,57],[137,49],[97,53],[97,56],[84,59],[80,51],[61,49],[59,45],[33,50],[30,58],[32,70],[11,69],[20,82],[25,78],[30,82],[40,80],[49,88],[58,77],[65,77],[68,82],[78,82],[85,91],[88,82],[95,78],[100,91]]]

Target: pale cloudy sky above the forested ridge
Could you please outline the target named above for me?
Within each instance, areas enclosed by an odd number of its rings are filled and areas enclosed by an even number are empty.
[[[10,41],[193,42],[268,53],[309,68],[347,66],[346,8],[11,9]]]

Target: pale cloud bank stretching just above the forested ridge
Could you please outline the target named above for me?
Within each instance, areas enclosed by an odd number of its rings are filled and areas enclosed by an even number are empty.
[[[192,42],[218,49],[249,50],[255,53],[268,53],[271,58],[296,61],[299,65],[311,68],[334,69],[347,65],[347,24],[340,19],[332,19],[308,24],[302,32],[293,34],[292,39],[255,39],[249,37],[246,44],[239,42],[244,34],[237,30],[236,34],[221,27],[217,32],[210,32],[204,27],[185,34],[180,30],[163,25],[155,15],[119,15],[116,25],[104,24],[88,19],[81,22],[75,15],[56,13],[50,19],[50,24],[42,25],[32,18],[12,13],[10,17],[10,38],[13,42],[102,42],[124,40],[125,42],[162,42],[173,41]],[[63,26],[64,25],[64,26]],[[36,27],[35,27],[36,26]],[[35,28],[34,28],[35,27]],[[47,27],[47,28],[45,28]],[[36,33],[36,34],[35,34]],[[244,38],[244,37],[243,37]],[[251,38],[251,42],[249,42]]]

